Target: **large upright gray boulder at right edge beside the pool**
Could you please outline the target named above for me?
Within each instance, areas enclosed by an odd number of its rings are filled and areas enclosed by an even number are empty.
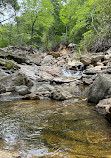
[[[88,101],[98,103],[108,97],[111,97],[111,75],[98,75],[90,87]]]

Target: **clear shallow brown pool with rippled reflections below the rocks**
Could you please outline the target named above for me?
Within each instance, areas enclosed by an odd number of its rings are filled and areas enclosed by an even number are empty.
[[[0,103],[0,149],[22,158],[102,158],[111,155],[111,126],[80,98]]]

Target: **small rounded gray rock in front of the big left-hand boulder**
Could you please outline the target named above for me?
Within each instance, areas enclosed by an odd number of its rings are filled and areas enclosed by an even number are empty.
[[[25,85],[21,85],[21,86],[16,86],[15,87],[15,91],[19,94],[19,95],[26,95],[29,94],[29,88]]]

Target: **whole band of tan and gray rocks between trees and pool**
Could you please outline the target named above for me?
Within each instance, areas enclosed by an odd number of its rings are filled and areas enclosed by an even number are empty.
[[[82,95],[81,88],[87,86],[88,102],[98,104],[111,97],[110,78],[111,48],[79,55],[71,45],[46,53],[12,46],[0,49],[0,101],[62,101]],[[97,107],[110,118],[109,100],[108,105],[103,102]]]

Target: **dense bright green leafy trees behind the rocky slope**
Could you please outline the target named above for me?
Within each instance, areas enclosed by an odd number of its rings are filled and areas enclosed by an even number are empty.
[[[16,1],[3,2],[17,9]],[[73,42],[97,50],[111,44],[110,0],[25,0],[21,7],[13,24],[0,27],[0,47],[30,45],[51,50],[59,43]]]

